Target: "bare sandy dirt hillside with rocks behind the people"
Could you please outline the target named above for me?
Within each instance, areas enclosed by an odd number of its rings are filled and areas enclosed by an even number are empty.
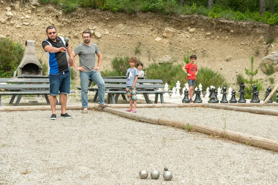
[[[198,65],[220,71],[229,83],[235,84],[235,75],[245,74],[244,68],[250,68],[250,57],[255,56],[255,66],[259,68],[256,77],[264,85],[269,84],[269,77],[274,77],[275,84],[278,83],[276,73],[266,76],[259,66],[266,55],[265,39],[277,38],[277,27],[265,24],[213,21],[202,16],[124,14],[91,9],[64,14],[54,5],[34,6],[20,4],[19,1],[0,3],[0,21],[1,37],[11,37],[23,46],[25,40],[35,40],[36,55],[45,60],[41,43],[47,39],[46,27],[54,25],[59,35],[69,37],[72,48],[82,42],[84,30],[100,32],[101,37],[92,36],[92,42],[98,45],[104,56],[101,70],[111,68],[111,59],[117,55],[134,55],[135,47],[141,41],[141,53],[136,56],[145,66],[167,58],[166,55],[180,63],[189,50],[190,54],[197,55]],[[163,37],[165,28],[174,31],[172,38]],[[189,33],[190,28],[196,28],[195,32]],[[159,42],[155,41],[157,37],[161,38]],[[269,47],[269,54],[274,51],[278,52],[276,42]],[[231,60],[227,62],[228,56]],[[76,63],[79,64],[78,57]]]

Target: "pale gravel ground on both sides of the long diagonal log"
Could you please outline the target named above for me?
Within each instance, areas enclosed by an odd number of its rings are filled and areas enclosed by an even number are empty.
[[[249,134],[277,139],[274,116],[203,108],[137,111],[219,128],[226,115],[226,129],[241,131],[245,125]],[[0,112],[0,184],[278,183],[277,152],[105,112],[67,112],[74,118],[50,120],[50,111]],[[162,178],[164,167],[172,171],[171,181]],[[140,179],[141,169],[157,169],[161,177]]]

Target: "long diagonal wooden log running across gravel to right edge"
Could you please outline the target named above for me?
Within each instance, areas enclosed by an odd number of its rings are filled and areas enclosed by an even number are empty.
[[[235,132],[231,130],[223,130],[208,125],[200,125],[195,123],[188,123],[184,121],[170,120],[164,118],[148,117],[148,116],[140,115],[138,113],[129,113],[129,112],[112,109],[112,108],[103,108],[99,110],[116,114],[118,116],[126,117],[133,120],[148,122],[156,125],[172,126],[180,129],[187,129],[186,125],[189,124],[192,127],[192,131],[194,132],[199,132],[208,135],[217,135],[244,144],[262,147],[267,150],[278,151],[278,141],[272,139],[257,137],[250,134],[244,134],[244,133]]]

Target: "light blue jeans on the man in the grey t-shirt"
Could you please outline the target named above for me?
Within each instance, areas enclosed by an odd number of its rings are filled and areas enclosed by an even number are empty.
[[[88,107],[88,84],[89,78],[91,78],[96,85],[98,86],[98,103],[104,104],[104,93],[105,93],[105,83],[96,70],[92,72],[79,72],[80,81],[81,81],[81,102],[82,107]]]

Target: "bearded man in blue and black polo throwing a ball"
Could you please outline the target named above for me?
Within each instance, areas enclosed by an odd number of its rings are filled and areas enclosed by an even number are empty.
[[[54,26],[46,28],[48,39],[42,43],[43,49],[48,57],[48,71],[50,82],[50,106],[52,115],[50,119],[56,119],[56,96],[60,91],[61,117],[72,118],[66,113],[67,94],[70,92],[71,79],[69,67],[73,64],[72,49],[61,36],[57,37],[57,31]],[[69,60],[67,60],[67,54]]]

